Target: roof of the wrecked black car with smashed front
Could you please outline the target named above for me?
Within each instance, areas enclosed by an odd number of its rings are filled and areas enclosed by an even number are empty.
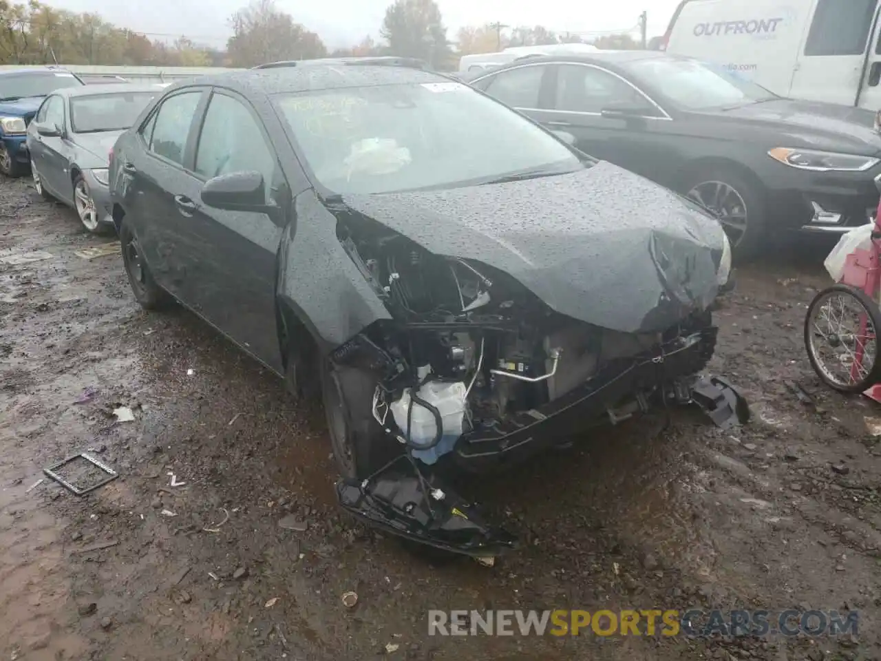
[[[311,92],[345,87],[376,85],[407,85],[448,80],[431,71],[409,67],[389,66],[333,66],[313,64],[306,67],[278,67],[235,71],[218,76],[200,76],[174,85],[218,85],[246,89],[251,92],[276,94]],[[93,85],[90,85],[93,86]],[[118,87],[118,85],[115,85]]]

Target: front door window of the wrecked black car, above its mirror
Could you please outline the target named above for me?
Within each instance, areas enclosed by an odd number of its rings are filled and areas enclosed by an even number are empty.
[[[261,173],[268,192],[276,159],[248,108],[240,100],[215,93],[199,136],[196,173],[211,179],[245,170]]]

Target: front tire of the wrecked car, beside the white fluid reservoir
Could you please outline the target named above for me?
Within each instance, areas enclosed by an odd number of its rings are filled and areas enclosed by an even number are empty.
[[[344,478],[365,479],[387,463],[396,449],[371,410],[376,380],[359,369],[332,368],[329,360],[324,361],[320,374],[322,405],[337,466]]]

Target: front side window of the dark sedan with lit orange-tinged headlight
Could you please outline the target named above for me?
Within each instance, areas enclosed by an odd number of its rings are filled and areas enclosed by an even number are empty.
[[[646,115],[657,111],[631,85],[594,67],[561,64],[557,77],[554,108],[581,113],[599,113],[603,108],[636,108]]]

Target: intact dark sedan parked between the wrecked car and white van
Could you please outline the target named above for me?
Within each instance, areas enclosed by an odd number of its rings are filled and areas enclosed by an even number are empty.
[[[840,235],[877,207],[881,136],[862,108],[784,99],[722,67],[644,50],[529,57],[465,79],[702,204],[741,257],[774,234],[791,241],[788,230]]]

